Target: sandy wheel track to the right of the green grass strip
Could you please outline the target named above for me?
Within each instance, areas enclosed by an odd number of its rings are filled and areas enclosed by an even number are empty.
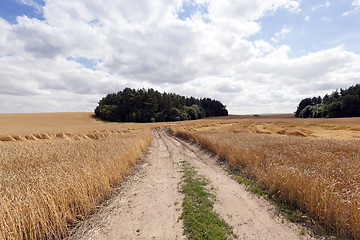
[[[181,148],[187,161],[199,174],[209,179],[216,189],[214,209],[233,226],[239,239],[312,239],[301,234],[296,224],[276,214],[274,207],[264,199],[246,191],[219,166],[216,157],[204,153],[198,146],[161,132],[173,148]],[[170,144],[169,144],[170,145]]]

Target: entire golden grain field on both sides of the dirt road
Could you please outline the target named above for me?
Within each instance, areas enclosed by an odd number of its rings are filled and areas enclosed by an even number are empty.
[[[274,197],[360,238],[360,118],[246,115],[108,123],[92,113],[0,114],[0,239],[61,238],[111,195],[167,127]]]

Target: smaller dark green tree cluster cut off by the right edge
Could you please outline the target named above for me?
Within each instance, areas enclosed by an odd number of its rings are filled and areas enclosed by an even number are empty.
[[[360,84],[348,89],[336,90],[323,98],[313,97],[301,100],[295,112],[301,118],[360,117]]]

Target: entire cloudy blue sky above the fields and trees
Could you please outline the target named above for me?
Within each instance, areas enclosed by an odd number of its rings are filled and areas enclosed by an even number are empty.
[[[0,113],[92,112],[125,87],[292,113],[360,83],[359,26],[360,0],[1,0]]]

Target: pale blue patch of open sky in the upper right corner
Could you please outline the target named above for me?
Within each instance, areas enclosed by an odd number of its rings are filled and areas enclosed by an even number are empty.
[[[291,46],[291,57],[307,55],[337,46],[360,53],[360,12],[343,16],[351,11],[351,1],[304,0],[299,13],[280,9],[273,15],[265,16],[261,32],[250,40],[265,40],[275,46]],[[283,31],[282,31],[283,30]]]

